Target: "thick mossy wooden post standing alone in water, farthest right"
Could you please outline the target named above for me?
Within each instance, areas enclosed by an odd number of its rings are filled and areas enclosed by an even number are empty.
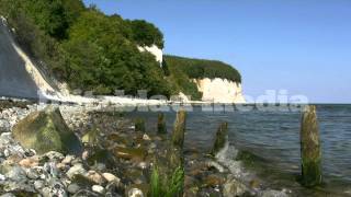
[[[302,184],[314,187],[321,184],[321,151],[316,106],[304,108],[301,126]]]

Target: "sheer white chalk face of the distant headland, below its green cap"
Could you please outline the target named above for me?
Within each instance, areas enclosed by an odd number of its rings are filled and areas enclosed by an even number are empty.
[[[197,79],[197,89],[203,93],[202,100],[215,103],[245,103],[241,84],[226,79]]]

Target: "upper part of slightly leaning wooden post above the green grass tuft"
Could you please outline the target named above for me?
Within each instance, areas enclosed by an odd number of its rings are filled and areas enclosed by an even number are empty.
[[[183,149],[184,144],[184,132],[185,132],[185,111],[179,111],[177,113],[177,119],[174,123],[173,134],[172,134],[172,143],[176,148]]]

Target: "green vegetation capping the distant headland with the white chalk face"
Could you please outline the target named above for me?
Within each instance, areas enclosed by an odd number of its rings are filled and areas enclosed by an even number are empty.
[[[192,100],[201,100],[194,79],[223,78],[241,82],[240,73],[229,65],[220,61],[191,59],[176,56],[163,57],[163,70],[174,89],[191,95]]]

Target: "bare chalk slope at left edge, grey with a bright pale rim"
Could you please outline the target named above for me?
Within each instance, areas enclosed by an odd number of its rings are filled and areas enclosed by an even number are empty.
[[[37,91],[55,92],[15,43],[7,20],[0,16],[0,95],[37,99]]]

